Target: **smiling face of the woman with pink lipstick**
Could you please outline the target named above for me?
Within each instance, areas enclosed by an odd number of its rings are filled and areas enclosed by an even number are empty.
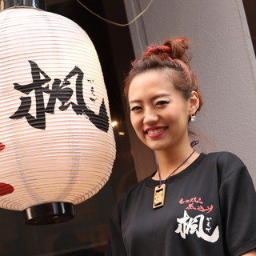
[[[161,70],[134,77],[128,93],[130,120],[138,138],[152,150],[168,150],[188,142],[190,99],[174,88]]]

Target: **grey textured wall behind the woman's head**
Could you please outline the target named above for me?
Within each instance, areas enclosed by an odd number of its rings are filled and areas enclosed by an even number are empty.
[[[128,19],[149,2],[125,0]],[[137,56],[148,43],[191,39],[205,100],[192,127],[201,134],[197,148],[238,154],[256,184],[256,61],[242,0],[154,0],[130,33]]]

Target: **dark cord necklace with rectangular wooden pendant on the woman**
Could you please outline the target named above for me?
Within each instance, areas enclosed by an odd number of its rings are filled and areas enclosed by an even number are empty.
[[[154,188],[153,209],[164,206],[166,197],[166,180],[170,178],[170,176],[174,174],[176,170],[178,170],[191,158],[191,156],[194,154],[194,151],[195,150],[193,150],[193,152],[175,170],[173,170],[164,181],[162,181],[160,170],[158,167],[159,185]]]

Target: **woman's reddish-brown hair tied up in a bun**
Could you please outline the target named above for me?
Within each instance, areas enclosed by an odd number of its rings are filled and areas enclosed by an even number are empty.
[[[130,83],[137,74],[149,70],[163,70],[169,75],[174,87],[180,90],[184,98],[190,98],[193,90],[199,95],[200,110],[203,102],[198,91],[198,78],[190,68],[191,55],[188,52],[190,40],[188,38],[174,38],[163,42],[160,46],[149,46],[138,58],[131,63],[130,73],[125,79],[124,94],[128,98]]]

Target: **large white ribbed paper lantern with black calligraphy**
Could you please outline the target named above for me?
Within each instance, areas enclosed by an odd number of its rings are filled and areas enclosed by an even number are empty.
[[[0,207],[26,223],[74,217],[105,185],[115,143],[93,43],[43,1],[2,1]]]

